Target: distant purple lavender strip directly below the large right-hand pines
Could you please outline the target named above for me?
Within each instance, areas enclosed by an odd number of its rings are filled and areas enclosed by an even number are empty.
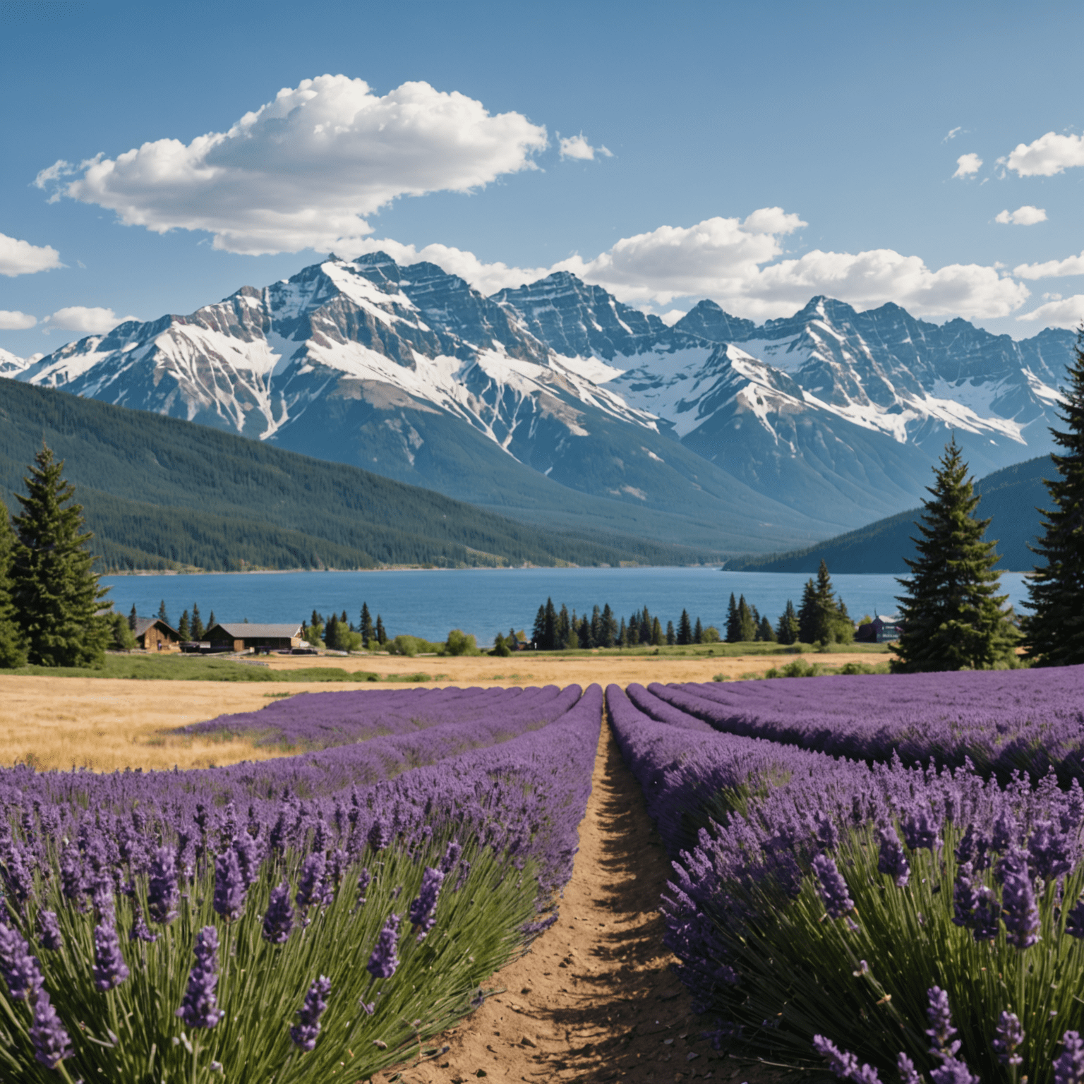
[[[648,686],[720,731],[837,757],[1084,782],[1084,666]]]

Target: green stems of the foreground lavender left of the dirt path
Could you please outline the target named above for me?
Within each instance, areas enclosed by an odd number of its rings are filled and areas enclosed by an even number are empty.
[[[517,870],[491,849],[468,844],[461,861],[472,863],[469,874],[457,892],[453,888],[459,867],[448,875],[436,926],[418,944],[406,911],[426,865],[439,863],[447,841],[435,837],[413,857],[402,850],[366,852],[346,869],[334,902],[311,916],[308,927],[301,929],[298,922],[283,945],[261,937],[262,914],[271,889],[284,877],[293,899],[296,859],[286,867],[264,864],[249,890],[244,915],[232,924],[212,909],[214,869],[206,870],[186,890],[172,924],[152,924],[159,934],[153,944],[129,941],[132,901],[118,898],[117,931],[131,973],[105,994],[93,983],[93,914],[65,905],[57,876],[49,883],[39,881],[43,905],[60,918],[63,949],[49,952],[37,945],[36,906],[18,925],[72,1037],[74,1056],[62,1063],[68,1079],[196,1084],[221,1081],[224,1073],[228,1081],[250,1084],[309,1084],[340,1072],[345,1080],[367,1080],[386,1066],[417,1055],[426,1038],[472,1011],[480,983],[524,951],[521,927],[535,917],[533,864]],[[357,878],[362,866],[373,873],[373,881],[366,902],[359,906]],[[137,885],[134,902],[145,915],[145,878]],[[392,912],[403,916],[400,965],[390,979],[372,981],[365,964]],[[215,1028],[185,1032],[175,1014],[188,984],[196,933],[211,925],[221,946],[218,1007],[225,1015]],[[289,1028],[306,991],[321,975],[331,980],[331,995],[315,1049],[305,1053],[292,1043]],[[361,1009],[362,1001],[375,1003],[372,1016]],[[34,1059],[30,1019],[30,1007],[13,1001],[7,988],[0,989],[0,1076],[52,1084],[63,1076]],[[215,1062],[221,1070],[212,1068]]]

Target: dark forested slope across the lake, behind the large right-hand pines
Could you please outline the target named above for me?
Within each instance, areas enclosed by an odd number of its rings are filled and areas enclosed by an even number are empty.
[[[1041,455],[995,470],[975,483],[982,494],[976,514],[993,520],[985,537],[997,540],[1001,571],[1028,572],[1034,566],[1035,557],[1028,545],[1041,530],[1036,508],[1049,504],[1043,479],[1054,475],[1049,456]],[[920,513],[920,508],[911,508],[805,550],[730,560],[726,567],[760,572],[815,572],[824,560],[834,572],[906,572],[903,562],[905,557],[915,557],[911,539],[918,531],[915,520]]]

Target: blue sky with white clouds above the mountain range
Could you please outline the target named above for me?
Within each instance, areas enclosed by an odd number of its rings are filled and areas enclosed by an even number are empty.
[[[826,293],[1074,326],[1082,29],[1070,3],[0,0],[0,348],[332,247],[486,293],[566,268],[669,319]]]

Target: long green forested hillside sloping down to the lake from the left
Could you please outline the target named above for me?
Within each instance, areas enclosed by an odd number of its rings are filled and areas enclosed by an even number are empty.
[[[0,487],[42,441],[66,461],[100,569],[686,564],[718,555],[555,533],[176,418],[0,380]]]

